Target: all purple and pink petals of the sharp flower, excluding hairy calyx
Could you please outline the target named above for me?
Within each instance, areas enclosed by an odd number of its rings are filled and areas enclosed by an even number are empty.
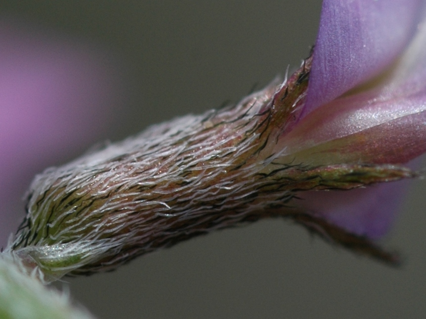
[[[307,148],[322,164],[400,164],[425,152],[424,5],[323,2],[302,120],[283,138],[288,153]],[[311,192],[301,195],[300,204],[349,232],[376,239],[388,230],[401,192],[402,184],[345,194]]]

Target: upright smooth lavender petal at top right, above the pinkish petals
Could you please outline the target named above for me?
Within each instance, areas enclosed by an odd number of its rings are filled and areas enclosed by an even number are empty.
[[[418,0],[324,0],[302,116],[386,68],[411,40]]]

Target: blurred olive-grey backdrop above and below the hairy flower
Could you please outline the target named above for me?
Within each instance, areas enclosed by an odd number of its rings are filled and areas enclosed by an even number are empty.
[[[237,102],[288,65],[296,68],[315,41],[320,9],[319,0],[2,0],[0,38],[6,28],[65,41],[105,71],[93,71],[102,88],[93,90],[94,102],[67,106],[84,135],[44,146],[43,156],[14,171],[13,183],[0,175],[3,220],[19,223],[20,198],[45,167],[149,124]],[[411,184],[383,242],[403,253],[400,268],[326,244],[288,221],[265,220],[63,285],[99,319],[424,318],[425,186]]]

